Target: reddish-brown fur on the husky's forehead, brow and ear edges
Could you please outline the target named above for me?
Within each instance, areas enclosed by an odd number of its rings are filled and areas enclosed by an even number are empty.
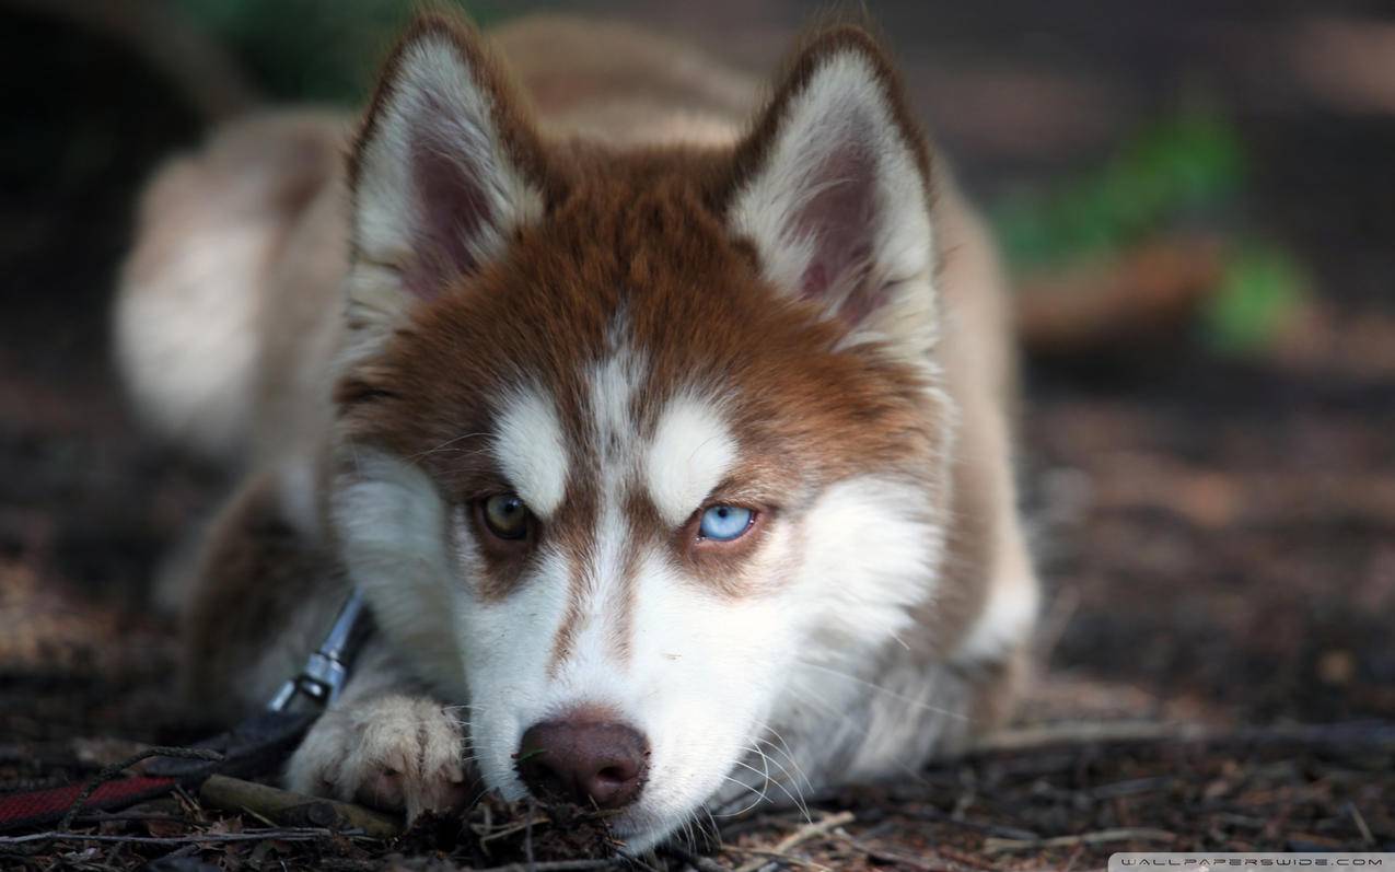
[[[876,349],[836,352],[841,329],[813,304],[781,303],[760,279],[749,247],[734,240],[723,220],[727,201],[769,151],[791,96],[826,53],[866,54],[900,93],[890,66],[865,33],[837,29],[812,40],[731,159],[678,148],[598,153],[580,144],[543,156],[476,35],[432,18],[406,39],[421,32],[448,35],[472,64],[487,64],[478,78],[494,96],[508,151],[550,193],[541,220],[519,229],[505,257],[417,307],[381,354],[346,374],[340,416],[356,444],[418,459],[451,502],[472,504],[505,487],[490,455],[434,446],[460,433],[488,433],[495,413],[488,399],[505,392],[513,371],[538,378],[557,398],[564,427],[576,434],[573,448],[582,460],[568,493],[572,509],[550,525],[548,534],[572,543],[573,565],[585,566],[590,541],[585,525],[594,516],[586,473],[596,469],[604,446],[586,442],[582,375],[610,352],[608,325],[624,310],[632,340],[651,356],[649,381],[633,409],[639,431],[653,430],[654,410],[661,407],[646,400],[667,399],[688,384],[721,385],[735,405],[730,414],[746,460],[734,477],[744,483],[746,501],[769,506],[767,512],[797,511],[798,502],[783,506],[781,499],[817,493],[855,472],[896,472],[933,487],[929,470],[943,449],[942,413],[928,407],[917,373]],[[360,142],[374,130],[396,64],[398,56],[388,64],[388,84],[374,99]],[[907,140],[919,144],[900,98],[896,106]],[[919,166],[928,167],[923,146],[917,153]],[[692,331],[689,325],[699,322],[704,329]],[[501,373],[499,361],[509,361],[511,370]],[[713,498],[728,495],[718,488]],[[635,520],[653,516],[643,499],[635,502]],[[753,544],[748,536],[737,548],[710,554],[677,544],[674,557],[714,587],[741,596],[746,590],[739,557]],[[483,582],[485,596],[506,596],[527,551],[487,550],[487,557],[492,572]],[[564,629],[559,650],[566,638]]]

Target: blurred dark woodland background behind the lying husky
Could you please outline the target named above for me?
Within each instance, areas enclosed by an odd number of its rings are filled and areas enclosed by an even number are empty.
[[[826,4],[465,6],[763,71]],[[1395,719],[1395,10],[866,6],[1018,286],[1028,717]],[[357,107],[407,15],[0,0],[0,742],[188,730],[142,597],[222,483],[140,438],[109,366],[135,195],[261,102]]]

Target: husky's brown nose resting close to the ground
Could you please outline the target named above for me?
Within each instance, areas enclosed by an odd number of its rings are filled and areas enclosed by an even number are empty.
[[[544,721],[519,744],[519,776],[540,799],[621,808],[639,797],[647,769],[649,741],[614,721]]]

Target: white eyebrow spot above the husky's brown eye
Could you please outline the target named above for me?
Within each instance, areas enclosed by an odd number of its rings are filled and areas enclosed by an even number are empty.
[[[543,392],[515,389],[495,423],[494,459],[538,518],[562,505],[569,462],[557,406]]]

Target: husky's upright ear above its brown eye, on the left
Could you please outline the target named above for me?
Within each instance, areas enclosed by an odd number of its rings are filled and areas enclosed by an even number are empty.
[[[350,328],[382,335],[497,257],[543,211],[541,146],[467,25],[418,20],[388,60],[350,162]]]

